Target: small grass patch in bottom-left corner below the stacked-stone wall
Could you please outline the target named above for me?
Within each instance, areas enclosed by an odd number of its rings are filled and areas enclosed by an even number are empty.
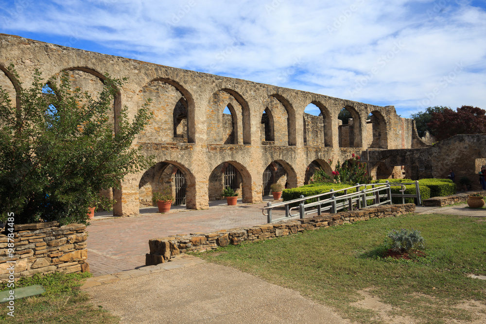
[[[91,305],[86,292],[76,289],[89,273],[52,273],[17,281],[15,288],[42,285],[45,293],[15,301],[15,317],[7,315],[8,303],[0,304],[0,323],[119,323],[119,318]],[[0,284],[0,291],[7,290]]]

